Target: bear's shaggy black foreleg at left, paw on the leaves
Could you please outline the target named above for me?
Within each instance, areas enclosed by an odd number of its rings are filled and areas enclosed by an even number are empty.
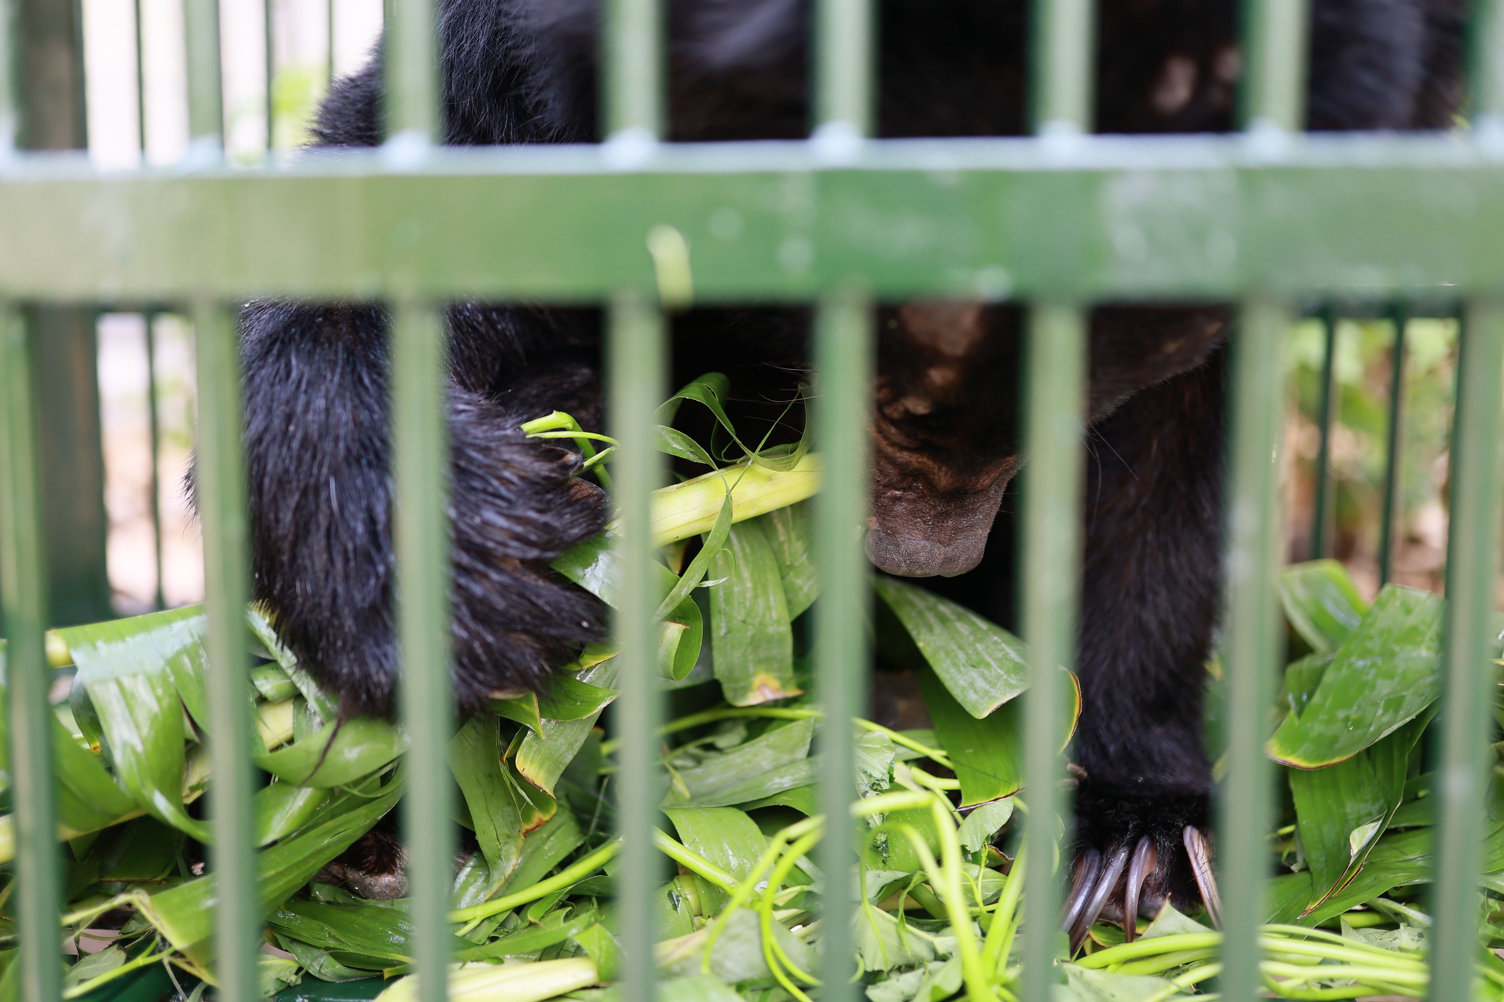
[[[390,715],[399,670],[387,326],[371,306],[265,303],[242,315],[254,595],[344,717]],[[451,346],[451,361],[465,349]],[[570,382],[556,376],[543,382]],[[513,374],[517,392],[502,397],[541,406],[526,383],[528,371]],[[600,602],[547,563],[600,532],[606,497],[575,478],[576,455],[517,431],[537,415],[457,382],[448,412],[454,688],[474,708],[544,687],[603,637]]]

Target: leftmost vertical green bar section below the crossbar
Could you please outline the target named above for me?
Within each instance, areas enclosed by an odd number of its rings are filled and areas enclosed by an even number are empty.
[[[47,566],[35,415],[26,323],[14,303],[0,300],[0,625],[8,640],[11,693],[20,997],[50,1000],[62,990],[57,913],[63,898],[53,793],[53,711],[47,703],[51,673],[42,643]]]

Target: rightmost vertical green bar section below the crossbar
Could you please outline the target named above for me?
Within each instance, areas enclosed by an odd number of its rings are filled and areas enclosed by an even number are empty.
[[[1478,954],[1478,874],[1487,792],[1489,706],[1499,520],[1499,403],[1504,385],[1504,303],[1472,302],[1457,359],[1451,442],[1451,533],[1447,542],[1445,653],[1433,757],[1436,850],[1432,873],[1430,997],[1472,999]]]

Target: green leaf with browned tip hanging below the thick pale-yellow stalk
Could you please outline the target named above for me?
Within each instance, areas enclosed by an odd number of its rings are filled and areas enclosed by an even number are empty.
[[[784,578],[757,520],[731,529],[716,568],[725,580],[710,589],[710,637],[726,702],[754,706],[797,696]]]

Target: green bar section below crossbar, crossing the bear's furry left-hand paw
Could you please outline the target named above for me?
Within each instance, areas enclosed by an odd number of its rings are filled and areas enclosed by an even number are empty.
[[[402,302],[393,323],[393,454],[397,482],[397,631],[402,721],[417,778],[403,795],[408,888],[417,927],[420,1002],[448,987],[450,888],[454,882],[451,787],[445,745],[454,732],[450,687],[448,421],[445,333],[438,309]]]

